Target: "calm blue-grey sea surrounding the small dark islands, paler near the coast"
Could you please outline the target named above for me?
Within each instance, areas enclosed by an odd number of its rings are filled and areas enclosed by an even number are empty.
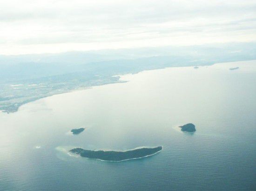
[[[256,61],[121,80],[0,113],[0,190],[256,190]],[[177,128],[186,123],[197,131]],[[67,153],[160,145],[123,162]]]

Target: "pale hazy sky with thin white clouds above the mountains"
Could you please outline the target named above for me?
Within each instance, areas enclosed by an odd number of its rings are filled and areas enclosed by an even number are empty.
[[[0,0],[0,54],[256,41],[256,0]]]

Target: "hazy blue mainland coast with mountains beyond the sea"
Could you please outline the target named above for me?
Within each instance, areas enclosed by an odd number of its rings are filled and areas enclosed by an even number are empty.
[[[125,83],[117,75],[166,67],[255,60],[255,46],[256,43],[232,43],[0,55],[0,111],[16,112],[21,105],[44,97],[104,84]],[[234,55],[237,49],[243,51]]]

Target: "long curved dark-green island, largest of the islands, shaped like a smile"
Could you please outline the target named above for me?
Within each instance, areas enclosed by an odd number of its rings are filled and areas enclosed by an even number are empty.
[[[154,148],[138,148],[128,151],[93,151],[85,150],[82,148],[73,148],[69,152],[79,154],[81,157],[100,159],[104,161],[122,161],[129,159],[139,159],[143,157],[151,156],[162,150],[162,146],[157,146]]]

